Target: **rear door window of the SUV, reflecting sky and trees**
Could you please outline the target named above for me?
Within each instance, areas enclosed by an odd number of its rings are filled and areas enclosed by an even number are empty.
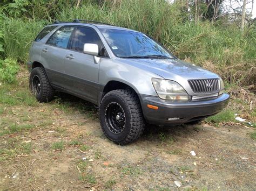
[[[73,26],[61,27],[55,34],[53,34],[53,36],[49,38],[46,44],[67,48],[73,29]]]

